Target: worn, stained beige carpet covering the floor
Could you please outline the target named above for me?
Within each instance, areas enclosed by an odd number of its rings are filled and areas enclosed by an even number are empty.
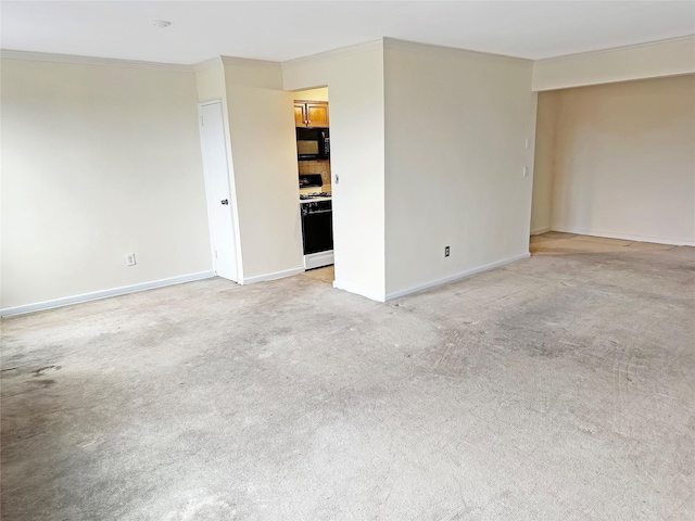
[[[693,249],[608,245],[4,319],[2,519],[692,520]]]

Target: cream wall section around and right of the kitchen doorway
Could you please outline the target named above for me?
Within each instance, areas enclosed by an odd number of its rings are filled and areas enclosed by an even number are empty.
[[[334,285],[383,301],[382,43],[286,62],[283,78],[286,90],[328,86],[330,93]]]

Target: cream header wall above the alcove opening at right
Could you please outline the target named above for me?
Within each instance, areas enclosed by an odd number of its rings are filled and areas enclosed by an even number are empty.
[[[533,64],[533,90],[566,89],[693,73],[695,36],[687,36],[540,60]]]

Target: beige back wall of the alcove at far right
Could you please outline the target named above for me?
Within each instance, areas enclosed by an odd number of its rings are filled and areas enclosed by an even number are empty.
[[[695,75],[558,91],[552,229],[695,245],[694,92]]]

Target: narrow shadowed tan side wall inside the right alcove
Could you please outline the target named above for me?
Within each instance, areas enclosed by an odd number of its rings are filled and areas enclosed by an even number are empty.
[[[557,92],[540,92],[535,120],[535,153],[533,162],[533,202],[531,234],[551,229],[553,201],[553,162],[557,123]]]

